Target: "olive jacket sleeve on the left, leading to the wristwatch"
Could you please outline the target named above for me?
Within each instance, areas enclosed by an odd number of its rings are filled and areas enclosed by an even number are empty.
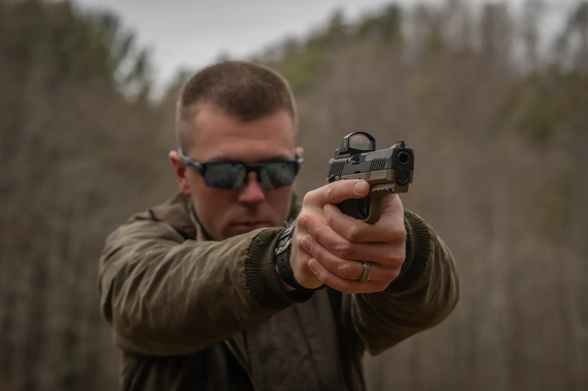
[[[294,301],[273,263],[283,228],[196,242],[148,217],[111,233],[99,263],[101,312],[122,350],[193,353]]]

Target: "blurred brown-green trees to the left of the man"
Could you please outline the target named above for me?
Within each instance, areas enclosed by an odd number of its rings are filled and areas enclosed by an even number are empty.
[[[0,384],[112,389],[96,259],[125,208],[113,200],[161,186],[125,190],[163,156],[148,56],[115,16],[39,0],[0,3],[0,56]]]

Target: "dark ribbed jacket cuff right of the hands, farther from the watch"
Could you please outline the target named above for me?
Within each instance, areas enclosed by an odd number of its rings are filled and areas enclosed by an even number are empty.
[[[425,271],[429,262],[429,226],[416,213],[405,209],[406,258],[400,275],[390,283],[388,292],[402,292],[409,288]]]

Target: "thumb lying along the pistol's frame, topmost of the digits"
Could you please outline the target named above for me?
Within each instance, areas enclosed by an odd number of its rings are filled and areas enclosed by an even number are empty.
[[[326,203],[338,204],[346,199],[365,197],[368,193],[368,182],[363,179],[345,179],[306,193],[303,203],[312,203],[322,208]]]

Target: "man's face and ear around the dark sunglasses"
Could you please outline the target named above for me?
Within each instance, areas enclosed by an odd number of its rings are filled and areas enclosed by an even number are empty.
[[[263,118],[243,121],[212,105],[204,105],[194,119],[194,143],[186,155],[198,162],[228,160],[258,163],[295,158],[292,119],[279,110]],[[281,226],[288,218],[293,185],[263,189],[255,172],[239,190],[206,186],[202,176],[186,168],[170,153],[180,189],[190,195],[198,219],[213,239],[223,240],[262,227]]]

